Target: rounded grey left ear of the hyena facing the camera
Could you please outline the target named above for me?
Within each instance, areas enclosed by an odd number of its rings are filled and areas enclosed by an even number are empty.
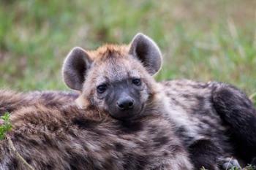
[[[91,66],[91,58],[86,50],[74,47],[64,61],[62,75],[64,82],[69,88],[82,90],[83,82],[86,80],[86,72]]]

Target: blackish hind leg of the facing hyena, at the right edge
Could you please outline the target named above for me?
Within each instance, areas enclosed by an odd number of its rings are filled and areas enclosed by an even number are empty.
[[[256,109],[252,101],[241,90],[225,84],[218,84],[212,95],[214,108],[230,127],[236,152],[250,163],[256,156]]]

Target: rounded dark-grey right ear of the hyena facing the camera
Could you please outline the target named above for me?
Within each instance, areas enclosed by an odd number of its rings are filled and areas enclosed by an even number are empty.
[[[156,74],[162,66],[162,54],[157,44],[148,36],[138,33],[132,39],[129,54],[137,57],[149,74]]]

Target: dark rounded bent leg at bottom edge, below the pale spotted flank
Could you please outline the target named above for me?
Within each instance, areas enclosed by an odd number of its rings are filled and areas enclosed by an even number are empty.
[[[195,169],[219,170],[222,151],[213,142],[202,139],[189,146],[189,153]]]

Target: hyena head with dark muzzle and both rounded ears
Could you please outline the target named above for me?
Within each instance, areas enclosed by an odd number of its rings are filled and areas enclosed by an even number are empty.
[[[157,93],[152,75],[162,55],[148,36],[137,34],[129,45],[105,45],[94,51],[73,48],[64,61],[64,82],[79,90],[79,107],[94,106],[129,120],[146,114]]]

